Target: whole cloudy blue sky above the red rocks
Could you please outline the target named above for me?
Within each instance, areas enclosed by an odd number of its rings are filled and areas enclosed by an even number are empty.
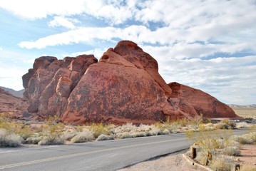
[[[15,90],[39,56],[100,58],[124,39],[167,83],[256,103],[256,0],[0,1],[0,37],[0,86]]]

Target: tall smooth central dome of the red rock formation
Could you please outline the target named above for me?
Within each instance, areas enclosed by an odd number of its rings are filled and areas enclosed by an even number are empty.
[[[171,92],[155,59],[135,43],[121,41],[89,66],[62,119],[66,123],[155,123],[165,120],[165,114],[181,118],[168,103]]]

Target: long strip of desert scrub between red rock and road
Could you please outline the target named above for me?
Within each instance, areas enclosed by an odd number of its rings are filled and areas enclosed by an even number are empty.
[[[247,123],[232,123],[222,120],[220,123],[209,123],[209,120],[170,120],[153,125],[103,125],[92,123],[90,125],[64,125],[54,116],[46,122],[25,122],[11,120],[11,113],[0,114],[0,147],[19,147],[25,144],[35,145],[61,145],[65,143],[79,143],[124,138],[138,138],[154,135],[168,135],[171,133],[200,133],[213,130],[228,130],[245,128]],[[213,132],[215,133],[215,132]],[[211,133],[212,135],[212,133]],[[238,142],[245,139],[234,137]],[[226,153],[230,149],[225,150]]]

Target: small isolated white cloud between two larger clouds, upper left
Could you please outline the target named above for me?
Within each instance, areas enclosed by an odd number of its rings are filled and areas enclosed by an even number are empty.
[[[74,24],[79,23],[77,19],[65,18],[62,16],[54,16],[54,19],[48,23],[48,26],[63,26],[66,28],[74,29],[76,26]]]

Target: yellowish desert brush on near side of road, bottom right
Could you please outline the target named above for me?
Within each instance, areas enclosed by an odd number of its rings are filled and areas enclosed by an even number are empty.
[[[256,133],[250,131],[242,136],[232,135],[232,131],[213,130],[186,132],[193,140],[191,148],[196,148],[195,161],[208,165],[213,170],[229,171],[235,157],[240,156],[241,145],[256,145]],[[187,155],[192,155],[190,150]],[[255,167],[242,165],[240,170],[256,170]]]

